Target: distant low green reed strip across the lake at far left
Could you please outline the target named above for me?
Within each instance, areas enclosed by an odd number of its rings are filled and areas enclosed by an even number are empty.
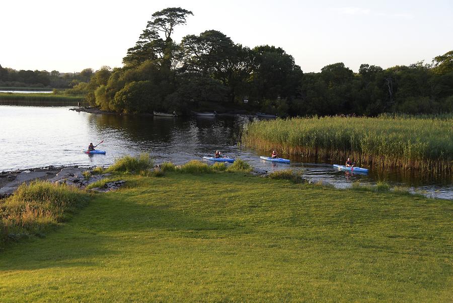
[[[11,105],[77,105],[85,97],[64,96],[53,93],[0,93],[0,104]]]

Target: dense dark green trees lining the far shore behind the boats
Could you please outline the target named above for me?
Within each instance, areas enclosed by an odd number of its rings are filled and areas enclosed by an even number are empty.
[[[453,50],[432,64],[363,64],[353,73],[336,63],[303,74],[282,48],[244,47],[216,30],[176,43],[173,32],[191,15],[181,8],[153,14],[124,67],[92,79],[90,103],[117,112],[234,108],[280,116],[453,111]]]

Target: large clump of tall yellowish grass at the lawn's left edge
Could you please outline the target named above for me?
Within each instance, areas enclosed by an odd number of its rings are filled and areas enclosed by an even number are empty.
[[[0,245],[42,233],[85,206],[89,198],[90,194],[77,188],[41,180],[19,186],[13,196],[0,200]]]

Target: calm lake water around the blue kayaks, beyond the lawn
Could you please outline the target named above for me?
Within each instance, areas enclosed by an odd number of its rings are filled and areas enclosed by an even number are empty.
[[[332,168],[331,162],[292,157],[291,164],[262,161],[270,151],[239,148],[236,144],[243,119],[139,117],[90,114],[70,111],[69,107],[0,105],[0,171],[48,165],[108,165],[115,158],[149,152],[157,163],[176,164],[202,160],[216,149],[240,157],[265,170],[303,169],[311,179],[323,179],[345,188],[355,181],[374,185],[386,180],[424,192],[429,196],[453,199],[451,178],[420,176],[411,172],[370,169],[369,174],[350,174]],[[82,153],[90,142],[104,140],[98,149],[106,155]]]

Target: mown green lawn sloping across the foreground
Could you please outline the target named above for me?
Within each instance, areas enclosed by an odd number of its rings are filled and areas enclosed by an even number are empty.
[[[0,302],[453,301],[453,202],[241,173],[127,176],[0,252]]]

